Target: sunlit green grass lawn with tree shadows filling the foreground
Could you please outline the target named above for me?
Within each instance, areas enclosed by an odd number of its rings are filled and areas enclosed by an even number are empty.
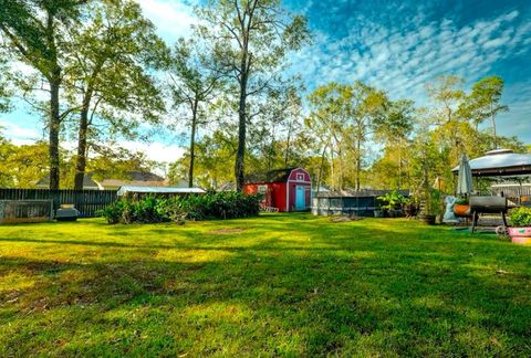
[[[310,214],[0,227],[0,356],[530,356],[531,248]]]

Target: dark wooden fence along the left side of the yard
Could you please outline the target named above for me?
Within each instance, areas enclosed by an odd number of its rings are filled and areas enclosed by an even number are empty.
[[[49,190],[1,189],[0,200],[52,200],[53,209],[60,204],[74,204],[81,218],[93,218],[98,210],[116,201],[116,190]]]

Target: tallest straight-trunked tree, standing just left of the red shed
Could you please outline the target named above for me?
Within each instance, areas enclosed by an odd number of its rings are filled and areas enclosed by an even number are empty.
[[[235,176],[237,189],[242,190],[248,97],[280,80],[279,70],[285,64],[287,53],[309,39],[306,21],[283,10],[280,0],[211,0],[198,13],[206,22],[199,27],[201,35],[215,44],[218,63],[237,85]]]

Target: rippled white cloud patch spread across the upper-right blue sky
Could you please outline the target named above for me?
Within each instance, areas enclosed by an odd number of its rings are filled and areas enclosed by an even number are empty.
[[[441,74],[469,81],[490,74],[500,60],[523,53],[531,43],[531,24],[518,11],[458,27],[450,19],[412,23],[375,23],[352,19],[342,39],[319,33],[314,45],[299,55],[308,83],[362,80],[387,90],[393,97],[423,104],[424,85]],[[342,49],[342,51],[337,51]],[[310,87],[311,90],[311,87]]]

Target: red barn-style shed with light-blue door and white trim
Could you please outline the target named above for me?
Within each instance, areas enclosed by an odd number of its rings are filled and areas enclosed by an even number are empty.
[[[312,179],[302,168],[287,168],[251,175],[243,186],[243,192],[261,192],[263,204],[279,211],[303,211],[310,208]]]

